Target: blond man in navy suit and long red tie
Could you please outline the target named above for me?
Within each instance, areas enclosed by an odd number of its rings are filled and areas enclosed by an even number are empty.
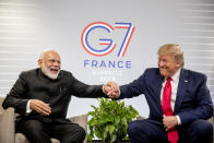
[[[129,124],[131,142],[212,143],[213,127],[206,119],[213,115],[213,103],[206,76],[182,68],[183,52],[179,45],[162,46],[157,63],[158,68],[146,69],[139,79],[119,90],[114,83],[108,83],[116,88],[109,93],[110,96],[122,99],[144,94],[147,100],[148,118]]]

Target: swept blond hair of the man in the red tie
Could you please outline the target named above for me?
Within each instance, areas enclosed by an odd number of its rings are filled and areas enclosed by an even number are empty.
[[[157,50],[157,55],[162,56],[165,53],[174,53],[175,55],[175,60],[177,62],[179,62],[181,64],[181,67],[185,65],[185,61],[183,61],[183,51],[180,48],[179,45],[177,44],[165,44],[163,46],[159,47],[159,49]]]

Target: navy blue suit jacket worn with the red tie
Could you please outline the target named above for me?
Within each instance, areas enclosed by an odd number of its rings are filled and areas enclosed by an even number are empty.
[[[120,99],[144,94],[150,107],[148,118],[162,122],[163,81],[164,76],[157,68],[146,69],[139,79],[120,86]],[[209,119],[213,115],[213,103],[204,74],[181,69],[174,114],[180,117],[182,124],[197,119]]]

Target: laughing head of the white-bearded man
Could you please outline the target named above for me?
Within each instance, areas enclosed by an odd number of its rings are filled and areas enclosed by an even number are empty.
[[[45,51],[38,60],[38,64],[43,73],[48,78],[52,80],[58,78],[61,69],[61,60],[59,53],[55,50]]]

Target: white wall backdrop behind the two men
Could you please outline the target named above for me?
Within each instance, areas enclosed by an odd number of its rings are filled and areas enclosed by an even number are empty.
[[[214,92],[214,1],[213,0],[0,0],[0,95],[5,96],[23,70],[37,68],[37,58],[46,48],[61,55],[62,69],[87,84],[112,80],[129,83],[145,68],[157,67],[157,49],[166,43],[181,45],[186,68],[205,73]],[[94,22],[112,26],[108,33],[94,28],[88,45],[105,49],[99,38],[112,39],[116,48],[102,57],[88,53],[81,44],[84,28]],[[128,28],[115,23],[131,23],[133,35],[123,57],[118,57]],[[98,68],[84,60],[96,61]],[[100,62],[129,61],[129,68],[100,67]],[[143,95],[126,99],[140,115],[147,117]],[[72,97],[68,116],[86,114],[96,99]]]

